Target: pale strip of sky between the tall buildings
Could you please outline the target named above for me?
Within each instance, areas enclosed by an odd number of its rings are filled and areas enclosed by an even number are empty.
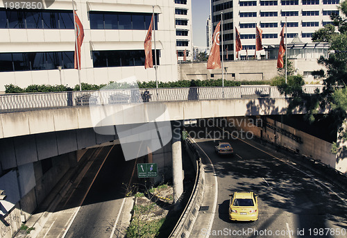
[[[192,0],[193,45],[206,48],[206,21],[210,15],[210,0]]]

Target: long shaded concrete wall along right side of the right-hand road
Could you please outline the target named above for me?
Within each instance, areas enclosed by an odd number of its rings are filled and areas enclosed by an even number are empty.
[[[231,124],[231,122],[236,121],[232,125],[235,125],[239,130],[250,131],[256,137],[262,137],[262,139],[290,148],[302,155],[314,158],[315,160],[321,160],[324,164],[329,164],[330,167],[339,171],[346,171],[347,168],[337,167],[336,155],[331,153],[331,143],[304,133],[301,130],[281,124],[279,121],[274,121],[273,119],[262,117],[261,120],[262,127],[253,124],[255,117],[228,117],[228,123]]]

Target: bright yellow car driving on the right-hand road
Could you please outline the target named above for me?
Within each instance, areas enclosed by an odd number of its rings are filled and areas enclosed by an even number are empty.
[[[253,192],[235,192],[230,196],[229,219],[231,221],[257,221],[257,195]]]

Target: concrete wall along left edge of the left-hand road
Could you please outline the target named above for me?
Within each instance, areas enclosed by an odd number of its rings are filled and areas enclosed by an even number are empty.
[[[22,225],[21,221],[26,221],[31,216],[37,205],[42,203],[62,176],[75,166],[77,157],[76,152],[72,152],[47,160],[51,160],[51,167],[46,171],[42,170],[43,160],[40,160],[22,165],[0,178],[0,189],[5,189],[8,195],[5,201],[0,201],[1,210],[8,207],[7,211],[3,211],[6,214],[2,216],[3,219],[0,222],[1,238],[10,238],[17,232]],[[14,176],[8,176],[11,173]],[[11,188],[3,187],[6,185],[4,179]],[[17,190],[19,196],[13,193],[13,190]]]

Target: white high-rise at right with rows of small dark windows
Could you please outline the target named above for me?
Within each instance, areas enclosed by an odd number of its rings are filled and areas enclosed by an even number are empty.
[[[235,26],[239,30],[243,50],[239,57],[255,56],[255,26],[262,29],[262,44],[280,43],[280,31],[287,21],[287,42],[296,35],[303,42],[312,42],[314,31],[331,23],[330,15],[339,15],[339,0],[211,0],[212,22],[215,27],[223,13],[224,59],[235,60]],[[247,51],[246,51],[247,49]],[[266,58],[264,50],[257,58]]]

